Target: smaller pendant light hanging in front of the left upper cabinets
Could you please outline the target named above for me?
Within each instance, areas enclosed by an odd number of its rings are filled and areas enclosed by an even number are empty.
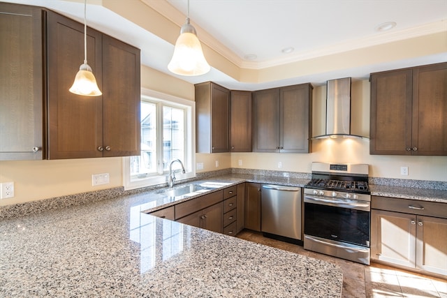
[[[87,0],[84,0],[84,63],[76,73],[75,82],[69,89],[71,93],[82,96],[100,96],[101,90],[96,84],[95,76],[89,64],[87,64]]]

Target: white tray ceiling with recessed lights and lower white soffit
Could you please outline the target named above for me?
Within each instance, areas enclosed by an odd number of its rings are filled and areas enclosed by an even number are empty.
[[[142,64],[169,73],[173,43],[156,36],[101,5],[106,1],[140,1],[181,26],[187,0],[87,0],[87,24],[142,50]],[[10,0],[45,6],[82,22],[80,0]],[[125,5],[125,4],[123,4]],[[447,0],[190,0],[191,23],[198,38],[238,68],[263,70],[296,61],[391,43],[430,33],[447,34]],[[380,24],[395,22],[388,31]],[[282,52],[293,48],[292,52]],[[255,56],[253,56],[255,55]],[[249,56],[255,57],[249,59]],[[251,58],[253,58],[251,57]],[[337,77],[365,79],[369,73],[447,61],[441,54],[395,59],[358,67],[306,73],[279,80],[238,82],[215,68],[198,77],[176,77],[191,83],[212,80],[230,89],[256,90]]]

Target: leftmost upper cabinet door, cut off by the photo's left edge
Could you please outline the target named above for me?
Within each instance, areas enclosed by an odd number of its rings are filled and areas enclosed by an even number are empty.
[[[42,24],[41,8],[0,3],[1,161],[46,157]]]

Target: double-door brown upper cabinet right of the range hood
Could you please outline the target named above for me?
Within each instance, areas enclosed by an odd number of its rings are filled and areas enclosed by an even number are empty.
[[[447,155],[447,63],[372,73],[370,154]]]

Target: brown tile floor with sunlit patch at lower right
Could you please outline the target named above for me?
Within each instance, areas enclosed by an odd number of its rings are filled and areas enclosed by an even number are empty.
[[[238,238],[334,262],[343,270],[342,297],[442,297],[447,298],[447,280],[372,263],[358,264],[321,253],[305,251],[302,246],[263,237],[261,232],[242,230]]]

